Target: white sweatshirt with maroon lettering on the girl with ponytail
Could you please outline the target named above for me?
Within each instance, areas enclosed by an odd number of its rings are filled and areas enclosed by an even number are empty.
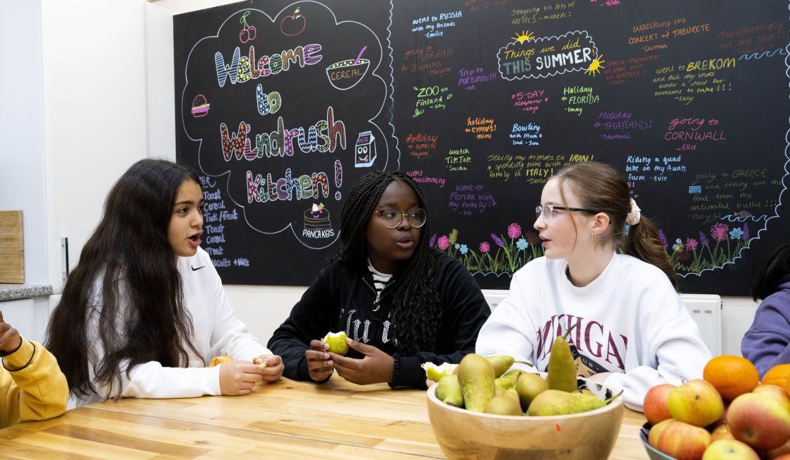
[[[623,389],[634,410],[654,385],[702,378],[710,351],[663,271],[615,254],[597,279],[577,287],[566,268],[566,260],[540,257],[517,271],[476,352],[509,354],[545,372],[554,338],[575,326],[568,342],[577,374],[612,372],[604,383]]]

